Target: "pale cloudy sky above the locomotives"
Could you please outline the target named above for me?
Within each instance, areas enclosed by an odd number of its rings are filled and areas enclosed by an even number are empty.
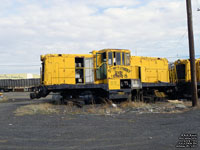
[[[192,1],[200,57],[200,0]],[[0,0],[0,74],[40,73],[40,55],[105,48],[189,55],[185,0]]]

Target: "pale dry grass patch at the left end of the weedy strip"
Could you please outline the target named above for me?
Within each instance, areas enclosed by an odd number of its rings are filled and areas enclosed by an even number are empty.
[[[52,113],[59,113],[59,111],[55,108],[54,105],[49,103],[21,106],[14,111],[16,116]]]

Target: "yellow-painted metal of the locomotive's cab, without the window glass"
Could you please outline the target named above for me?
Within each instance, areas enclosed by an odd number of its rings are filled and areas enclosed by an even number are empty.
[[[112,64],[109,64],[108,60],[108,53],[112,53]],[[105,53],[107,58],[105,61],[102,59],[102,54]],[[120,53],[121,62],[120,65],[114,64],[114,53]],[[130,55],[129,50],[125,49],[103,49],[100,51],[93,51],[92,54],[94,55],[94,64],[95,70],[103,68],[103,65],[106,65],[106,79],[98,79],[97,73],[95,71],[95,84],[108,84],[109,90],[117,90],[120,89],[120,79],[136,79],[136,70],[135,67],[126,65],[126,59],[124,60],[123,64],[123,55],[122,53],[127,53]],[[124,56],[125,58],[125,56]]]

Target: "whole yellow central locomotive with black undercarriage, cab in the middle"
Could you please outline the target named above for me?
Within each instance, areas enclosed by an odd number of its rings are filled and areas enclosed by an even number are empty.
[[[103,49],[91,54],[41,56],[41,85],[31,99],[60,93],[62,100],[151,99],[165,97],[170,83],[168,61],[131,56],[125,49]]]

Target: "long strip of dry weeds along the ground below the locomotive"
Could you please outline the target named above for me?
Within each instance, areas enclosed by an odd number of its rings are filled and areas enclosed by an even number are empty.
[[[187,105],[189,105],[189,103]],[[160,102],[151,104],[145,102],[125,101],[115,104],[110,100],[106,100],[104,101],[104,104],[85,105],[82,108],[77,107],[74,102],[67,102],[67,105],[63,105],[63,107],[60,107],[60,105],[55,103],[31,104],[16,109],[14,114],[16,116],[53,113],[63,113],[66,115],[115,115],[129,111],[136,113],[178,113],[188,109],[187,106],[185,109],[176,107],[177,102]]]

